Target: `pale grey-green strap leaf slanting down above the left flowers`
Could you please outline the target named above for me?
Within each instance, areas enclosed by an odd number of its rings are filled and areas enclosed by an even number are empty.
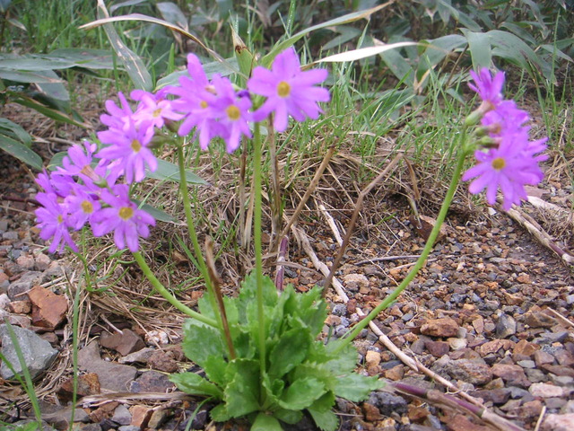
[[[98,16],[109,17],[108,10],[106,9],[106,5],[103,0],[98,0]],[[109,23],[104,24],[104,31],[106,31],[109,43],[112,48],[114,48],[114,51],[116,51],[120,62],[124,67],[126,67],[127,75],[132,78],[135,87],[151,92],[153,89],[152,75],[150,75],[143,65],[142,59],[138,57],[134,51],[126,47],[124,42],[119,38],[113,25]]]

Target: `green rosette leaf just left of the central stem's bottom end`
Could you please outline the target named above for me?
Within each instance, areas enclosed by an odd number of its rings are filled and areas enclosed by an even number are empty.
[[[226,378],[225,405],[231,418],[239,418],[260,409],[259,362],[234,359],[230,362]]]

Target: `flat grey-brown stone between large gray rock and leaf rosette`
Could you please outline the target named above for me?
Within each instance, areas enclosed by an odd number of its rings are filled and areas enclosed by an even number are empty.
[[[98,374],[102,391],[125,392],[137,374],[133,366],[101,359],[98,343],[95,341],[78,352],[78,366],[88,373]]]

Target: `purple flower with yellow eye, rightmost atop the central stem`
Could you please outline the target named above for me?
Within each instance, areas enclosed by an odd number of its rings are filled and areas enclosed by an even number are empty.
[[[315,85],[325,81],[327,74],[326,69],[302,72],[293,48],[275,57],[271,70],[257,66],[248,81],[248,89],[267,99],[253,118],[261,121],[274,112],[274,128],[280,132],[287,128],[290,115],[297,121],[308,117],[317,119],[322,112],[317,102],[329,101],[329,92]]]

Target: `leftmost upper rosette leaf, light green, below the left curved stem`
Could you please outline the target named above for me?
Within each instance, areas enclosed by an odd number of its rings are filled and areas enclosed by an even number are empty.
[[[212,356],[225,356],[225,347],[218,330],[187,319],[183,324],[183,353],[202,368]]]

